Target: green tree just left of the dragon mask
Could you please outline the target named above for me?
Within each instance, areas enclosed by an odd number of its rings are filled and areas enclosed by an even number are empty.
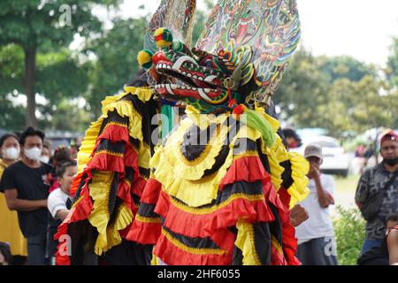
[[[88,110],[98,117],[101,101],[122,90],[138,71],[137,54],[142,50],[148,19],[113,19],[113,27],[103,37],[88,43],[87,52],[96,60],[89,73],[90,86],[86,93]],[[93,118],[94,118],[93,117]]]

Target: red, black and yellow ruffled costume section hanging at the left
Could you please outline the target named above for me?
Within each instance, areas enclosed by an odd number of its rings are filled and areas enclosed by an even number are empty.
[[[125,91],[104,99],[103,115],[86,132],[78,155],[80,172],[73,180],[77,201],[55,237],[67,234],[71,223],[87,219],[98,232],[97,255],[119,245],[129,232],[138,210],[132,194],[141,196],[146,178],[140,170],[149,168],[150,148],[144,142],[142,113],[133,100],[146,103],[153,91],[134,87]],[[119,202],[115,203],[116,198]],[[57,263],[70,264],[70,260],[58,253]]]

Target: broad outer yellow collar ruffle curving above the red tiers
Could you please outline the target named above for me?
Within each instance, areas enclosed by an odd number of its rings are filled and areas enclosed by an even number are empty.
[[[185,124],[181,124],[184,126]],[[174,132],[170,139],[178,139],[179,134],[184,132]],[[174,137],[173,135],[176,135]],[[187,203],[191,207],[198,207],[211,203],[217,198],[218,186],[224,178],[227,169],[233,162],[233,144],[239,138],[249,138],[256,141],[260,137],[260,133],[248,126],[241,126],[239,132],[235,135],[229,144],[230,150],[226,157],[225,163],[219,168],[218,172],[201,180],[187,180],[186,176],[175,169],[175,164],[179,164],[180,160],[175,155],[167,155],[165,151],[171,150],[172,142],[166,142],[165,147],[159,147],[152,157],[150,167],[154,168],[153,176],[163,185],[163,189],[168,195],[172,195]],[[203,172],[203,164],[197,164],[195,170]]]

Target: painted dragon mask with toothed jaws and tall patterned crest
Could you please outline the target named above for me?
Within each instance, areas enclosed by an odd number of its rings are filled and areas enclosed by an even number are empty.
[[[161,75],[159,96],[194,106],[202,113],[228,111],[238,104],[267,103],[279,85],[287,58],[300,37],[293,0],[218,1],[204,32],[189,49],[158,28],[158,50],[142,50],[139,63]]]

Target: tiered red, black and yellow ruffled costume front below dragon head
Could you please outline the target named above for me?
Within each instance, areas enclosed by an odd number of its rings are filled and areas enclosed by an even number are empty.
[[[155,244],[154,255],[166,264],[231,264],[235,246],[241,249],[243,264],[266,264],[266,256],[256,258],[256,253],[262,252],[258,241],[264,241],[272,255],[268,264],[294,264],[295,253],[289,252],[296,249],[292,241],[295,229],[289,226],[289,211],[279,199],[272,174],[266,172],[258,150],[237,151],[234,147],[238,139],[256,144],[261,134],[241,125],[218,171],[200,180],[187,180],[175,170],[174,164],[179,162],[175,151],[180,149],[172,145],[191,125],[184,120],[180,131],[173,132],[152,157],[152,177],[142,194],[128,240]],[[210,168],[203,169],[202,165],[195,164],[198,171]],[[279,168],[279,175],[283,172],[278,161],[270,167],[271,172],[274,167]],[[272,242],[270,235],[267,242],[257,235],[255,244],[249,237],[250,227],[277,221],[274,213],[278,213],[281,227],[278,237],[286,236],[287,240],[278,242],[275,238]],[[233,226],[237,233],[229,230]]]

